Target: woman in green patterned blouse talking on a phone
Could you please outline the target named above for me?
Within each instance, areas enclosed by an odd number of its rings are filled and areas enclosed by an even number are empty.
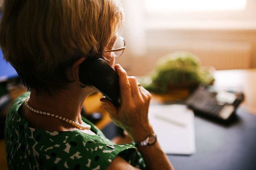
[[[0,46],[30,91],[16,99],[6,120],[9,169],[172,169],[148,123],[150,93],[114,65],[122,20],[115,0],[4,1]],[[81,84],[79,67],[94,54],[119,76],[120,106],[102,97],[102,107],[140,153],[131,143],[112,143],[81,117],[95,90]]]

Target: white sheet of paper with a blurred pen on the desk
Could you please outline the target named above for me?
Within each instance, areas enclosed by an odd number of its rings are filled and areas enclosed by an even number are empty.
[[[151,105],[149,121],[166,154],[194,154],[194,113],[185,105]]]

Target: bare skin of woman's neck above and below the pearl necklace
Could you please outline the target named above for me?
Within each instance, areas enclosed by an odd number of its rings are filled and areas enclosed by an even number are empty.
[[[31,90],[29,104],[34,109],[46,111],[65,117],[66,119],[82,123],[81,110],[84,99],[89,96],[93,90],[86,87],[72,88],[71,90],[62,90],[53,96],[48,94],[37,95],[34,90]],[[22,116],[27,119],[31,127],[48,130],[48,131],[67,131],[74,129],[70,125],[59,119],[48,117],[34,113],[22,107]]]

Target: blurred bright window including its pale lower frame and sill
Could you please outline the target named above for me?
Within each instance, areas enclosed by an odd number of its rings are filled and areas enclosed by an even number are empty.
[[[146,29],[254,29],[256,0],[144,0]]]

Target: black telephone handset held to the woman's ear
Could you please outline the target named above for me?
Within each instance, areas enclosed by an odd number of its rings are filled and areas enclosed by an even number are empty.
[[[115,106],[120,105],[119,78],[115,70],[102,57],[87,57],[79,67],[79,79],[103,94]]]

